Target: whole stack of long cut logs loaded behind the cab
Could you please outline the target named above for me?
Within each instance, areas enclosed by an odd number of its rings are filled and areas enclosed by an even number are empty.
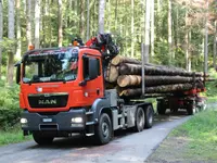
[[[119,96],[142,95],[142,68],[145,71],[145,93],[170,93],[194,87],[203,88],[203,73],[187,72],[182,68],[144,64],[126,57],[115,57],[106,70],[105,80],[117,88]]]

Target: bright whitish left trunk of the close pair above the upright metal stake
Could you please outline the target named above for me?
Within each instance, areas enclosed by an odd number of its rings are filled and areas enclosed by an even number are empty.
[[[146,0],[145,4],[145,40],[144,40],[144,61],[145,63],[149,63],[149,47],[150,47],[150,3],[151,0]]]

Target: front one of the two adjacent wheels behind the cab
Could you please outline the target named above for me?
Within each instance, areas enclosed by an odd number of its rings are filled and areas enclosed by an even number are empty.
[[[142,108],[138,108],[136,111],[136,121],[135,121],[135,130],[136,131],[142,131],[144,129],[144,124],[145,124],[145,115],[144,111]]]

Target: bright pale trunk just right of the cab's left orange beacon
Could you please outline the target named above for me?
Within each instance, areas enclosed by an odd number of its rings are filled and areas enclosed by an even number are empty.
[[[35,48],[40,48],[40,0],[35,1]]]

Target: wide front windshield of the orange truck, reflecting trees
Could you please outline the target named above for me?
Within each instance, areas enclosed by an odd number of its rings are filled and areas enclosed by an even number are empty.
[[[75,51],[75,50],[74,50]],[[78,51],[28,54],[24,60],[24,83],[67,82],[77,78]]]

